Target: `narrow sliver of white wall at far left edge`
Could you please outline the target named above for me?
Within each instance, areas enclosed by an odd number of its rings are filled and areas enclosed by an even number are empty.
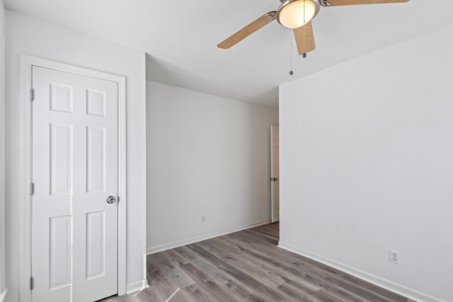
[[[0,0],[0,302],[5,291],[5,186],[4,186],[4,42],[5,42],[5,8]]]

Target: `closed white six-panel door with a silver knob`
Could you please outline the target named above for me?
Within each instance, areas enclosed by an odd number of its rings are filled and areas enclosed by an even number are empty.
[[[112,296],[117,83],[37,66],[32,82],[33,302]]]

